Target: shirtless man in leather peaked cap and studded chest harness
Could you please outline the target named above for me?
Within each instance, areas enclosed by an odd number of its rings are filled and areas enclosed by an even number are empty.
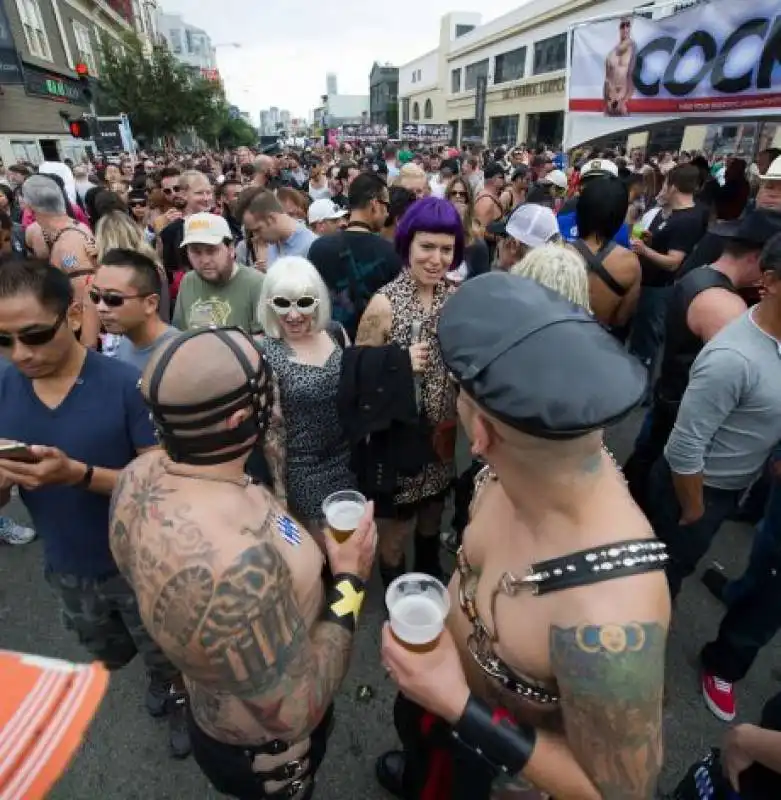
[[[591,315],[502,273],[459,289],[438,335],[488,466],[436,647],[383,633],[404,751],[380,758],[378,778],[404,798],[487,800],[527,781],[553,797],[650,798],[666,554],[602,445],[640,402],[642,367]]]

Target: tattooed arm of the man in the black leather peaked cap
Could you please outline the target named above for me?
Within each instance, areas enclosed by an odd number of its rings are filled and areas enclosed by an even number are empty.
[[[656,791],[666,640],[658,622],[551,628],[567,741],[605,800]]]

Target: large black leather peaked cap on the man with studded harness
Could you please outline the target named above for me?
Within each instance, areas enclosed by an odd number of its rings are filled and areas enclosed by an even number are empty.
[[[438,328],[447,368],[497,419],[543,439],[574,439],[617,422],[648,376],[587,311],[517,275],[466,281]]]

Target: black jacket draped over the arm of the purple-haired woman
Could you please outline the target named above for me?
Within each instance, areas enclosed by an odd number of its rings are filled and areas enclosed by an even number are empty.
[[[397,344],[344,351],[337,407],[351,468],[368,497],[393,494],[400,475],[417,475],[435,460],[409,354]]]

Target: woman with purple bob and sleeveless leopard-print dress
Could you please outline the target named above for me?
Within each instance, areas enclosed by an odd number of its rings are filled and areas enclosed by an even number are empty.
[[[375,498],[380,534],[380,574],[388,586],[406,571],[405,543],[415,532],[415,571],[441,575],[439,526],[453,477],[455,391],[436,344],[439,315],[448,296],[445,276],[464,258],[464,227],[448,200],[413,203],[396,229],[404,261],[399,276],[374,295],[361,318],[356,344],[408,348],[416,400],[431,429],[430,463],[412,478],[399,479],[393,497]]]

